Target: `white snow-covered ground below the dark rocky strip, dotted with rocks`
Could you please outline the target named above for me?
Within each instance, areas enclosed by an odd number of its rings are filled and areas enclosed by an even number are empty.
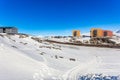
[[[80,47],[31,36],[0,36],[0,80],[76,80],[79,75],[120,75],[120,49]]]

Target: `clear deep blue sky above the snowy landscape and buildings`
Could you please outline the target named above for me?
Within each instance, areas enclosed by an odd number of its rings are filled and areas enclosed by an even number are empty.
[[[33,35],[120,29],[120,0],[0,0],[0,25]]]

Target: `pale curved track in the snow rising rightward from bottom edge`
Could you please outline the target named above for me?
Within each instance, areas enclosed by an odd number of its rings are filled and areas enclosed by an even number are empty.
[[[83,63],[67,71],[62,77],[64,80],[77,80],[80,74],[86,73],[89,69],[96,68],[100,63],[101,58],[95,56],[95,58],[88,63]]]

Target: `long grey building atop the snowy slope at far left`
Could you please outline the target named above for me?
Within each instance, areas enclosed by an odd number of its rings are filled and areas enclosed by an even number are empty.
[[[16,27],[0,27],[0,33],[18,33]]]

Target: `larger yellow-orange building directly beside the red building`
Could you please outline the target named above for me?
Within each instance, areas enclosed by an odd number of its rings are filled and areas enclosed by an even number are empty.
[[[103,37],[103,30],[99,29],[99,28],[92,28],[90,31],[90,36],[101,38],[101,37]]]

